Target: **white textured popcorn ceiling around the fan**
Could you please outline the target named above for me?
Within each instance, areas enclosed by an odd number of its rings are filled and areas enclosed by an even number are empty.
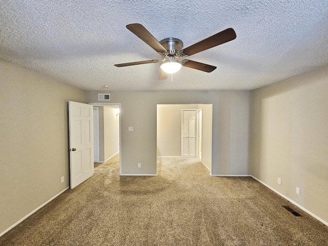
[[[189,57],[212,73],[158,81],[158,63],[114,67],[161,59],[132,23],[185,48],[229,27],[237,38]],[[0,59],[86,90],[255,89],[328,64],[328,1],[2,0]]]

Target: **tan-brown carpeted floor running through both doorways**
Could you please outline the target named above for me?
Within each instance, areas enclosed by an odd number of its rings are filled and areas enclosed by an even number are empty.
[[[120,177],[118,158],[0,245],[328,245],[324,224],[251,177],[211,177],[182,157],[158,158],[158,176]]]

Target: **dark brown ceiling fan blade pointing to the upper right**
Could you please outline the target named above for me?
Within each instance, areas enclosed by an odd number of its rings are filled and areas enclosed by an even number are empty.
[[[193,55],[198,52],[213,48],[215,46],[227,43],[236,38],[236,32],[232,28],[228,28],[219,33],[214,34],[200,42],[183,49],[185,55]]]

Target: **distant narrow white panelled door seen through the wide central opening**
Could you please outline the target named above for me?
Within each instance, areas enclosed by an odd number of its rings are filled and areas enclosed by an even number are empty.
[[[196,156],[197,110],[182,110],[182,156]]]

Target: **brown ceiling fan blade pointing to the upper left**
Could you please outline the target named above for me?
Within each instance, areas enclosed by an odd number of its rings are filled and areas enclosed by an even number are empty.
[[[137,35],[142,41],[144,41],[147,45],[152,47],[159,53],[168,52],[158,41],[157,39],[141,24],[129,24],[127,28]]]

